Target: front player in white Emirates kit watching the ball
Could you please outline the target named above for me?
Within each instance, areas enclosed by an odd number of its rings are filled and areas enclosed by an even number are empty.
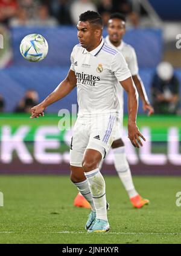
[[[45,107],[68,95],[77,84],[79,110],[70,147],[71,181],[91,206],[87,232],[106,232],[106,185],[98,166],[115,138],[118,81],[128,95],[130,141],[139,147],[145,138],[136,126],[138,93],[130,70],[124,57],[104,43],[101,16],[93,11],[82,13],[77,29],[80,44],[72,50],[68,76],[31,109],[31,118],[43,116]]]

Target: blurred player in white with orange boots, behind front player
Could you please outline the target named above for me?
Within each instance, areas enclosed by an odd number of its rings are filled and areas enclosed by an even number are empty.
[[[125,34],[125,16],[121,13],[113,13],[112,15],[110,15],[110,19],[107,25],[107,32],[108,35],[106,36],[106,38],[104,38],[104,42],[106,42],[107,45],[110,45],[118,52],[122,53],[125,61],[128,64],[130,72],[132,73],[132,78],[135,83],[136,89],[138,90],[138,94],[142,100],[142,106],[144,111],[148,110],[148,115],[153,114],[153,107],[148,101],[144,84],[142,83],[141,78],[138,74],[138,62],[135,50],[131,45],[126,44],[124,41],[122,41],[122,37]],[[117,87],[117,95],[119,101],[118,111],[122,112],[123,89],[121,86]],[[123,115],[121,114],[120,118],[122,118],[122,116]],[[119,120],[119,124],[122,124],[122,120]],[[135,189],[129,163],[125,156],[125,147],[124,142],[121,139],[121,130],[122,128],[118,127],[118,129],[116,130],[115,140],[112,143],[115,169],[118,172],[119,178],[121,179],[122,184],[124,185],[125,190],[129,195],[130,202],[132,203],[133,207],[141,208],[145,204],[148,204],[149,200],[142,198]],[[75,198],[74,205],[77,207],[90,207],[90,204],[84,199],[84,197],[80,193]]]

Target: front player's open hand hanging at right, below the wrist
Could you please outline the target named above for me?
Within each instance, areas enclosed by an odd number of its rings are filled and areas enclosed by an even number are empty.
[[[128,132],[129,132],[129,136],[128,137],[129,137],[129,139],[130,139],[130,141],[131,141],[131,143],[133,144],[134,147],[138,147],[139,148],[139,146],[143,146],[140,137],[144,141],[146,141],[146,139],[141,134],[141,132],[139,132],[139,129],[136,126],[136,122],[133,122],[133,121],[129,120]]]

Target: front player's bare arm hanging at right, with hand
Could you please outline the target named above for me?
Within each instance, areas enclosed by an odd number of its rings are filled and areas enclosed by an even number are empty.
[[[132,142],[134,147],[139,148],[139,146],[143,146],[139,137],[141,137],[144,141],[145,141],[145,138],[141,134],[141,132],[139,132],[139,129],[136,126],[136,116],[138,111],[138,93],[136,92],[136,88],[133,85],[132,78],[127,78],[124,81],[121,81],[120,84],[124,88],[124,90],[127,92],[127,95],[128,95],[129,139]]]

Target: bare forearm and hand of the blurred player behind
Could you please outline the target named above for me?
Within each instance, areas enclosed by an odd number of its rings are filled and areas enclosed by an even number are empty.
[[[136,89],[138,90],[138,94],[139,94],[140,98],[142,99],[143,110],[144,111],[148,110],[148,116],[152,115],[154,113],[154,109],[148,100],[148,96],[145,91],[144,84],[141,81],[141,78],[139,77],[139,75],[133,75],[132,78],[135,83]]]

